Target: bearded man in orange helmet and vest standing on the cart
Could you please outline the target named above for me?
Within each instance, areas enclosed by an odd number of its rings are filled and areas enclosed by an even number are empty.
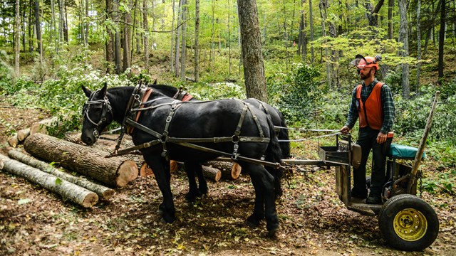
[[[378,68],[379,55],[363,57],[356,55],[351,62],[358,71],[363,83],[355,87],[352,93],[350,110],[346,124],[341,133],[347,134],[359,117],[358,144],[361,146],[361,164],[353,169],[353,188],[351,196],[366,198],[366,203],[381,203],[381,193],[386,182],[385,142],[388,132],[393,129],[394,102],[393,94],[388,85],[375,79]],[[372,149],[373,169],[371,175],[371,191],[368,196],[366,188],[366,163]]]

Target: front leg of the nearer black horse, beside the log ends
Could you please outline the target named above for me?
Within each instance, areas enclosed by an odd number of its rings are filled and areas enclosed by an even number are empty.
[[[161,156],[148,156],[143,154],[146,163],[154,170],[155,180],[162,192],[163,202],[158,208],[158,212],[166,223],[172,223],[176,217],[176,209],[172,201],[170,186],[170,161],[165,161]]]

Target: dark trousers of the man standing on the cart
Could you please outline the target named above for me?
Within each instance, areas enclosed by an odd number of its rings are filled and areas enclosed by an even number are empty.
[[[370,196],[380,196],[383,185],[386,182],[385,166],[386,152],[385,144],[377,143],[377,136],[380,131],[371,127],[360,128],[358,142],[361,146],[361,164],[358,169],[353,169],[353,191],[366,193],[366,164],[369,153],[372,149],[373,169],[371,174]]]

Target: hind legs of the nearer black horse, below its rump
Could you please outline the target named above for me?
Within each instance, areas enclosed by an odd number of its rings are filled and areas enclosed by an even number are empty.
[[[244,169],[244,166],[242,166]],[[266,228],[269,235],[274,235],[279,230],[279,218],[276,213],[276,203],[274,196],[274,176],[269,174],[264,166],[249,164],[249,175],[255,188],[255,208],[254,214],[249,218],[257,218],[260,220],[261,213],[263,212],[264,203],[264,216],[266,217]],[[255,185],[257,184],[257,185]],[[259,207],[261,206],[261,208]]]

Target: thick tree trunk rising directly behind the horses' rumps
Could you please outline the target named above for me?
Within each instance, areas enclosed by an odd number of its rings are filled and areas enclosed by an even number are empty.
[[[247,97],[267,102],[266,79],[261,53],[261,37],[255,0],[238,0],[239,27],[242,38],[244,79]]]

